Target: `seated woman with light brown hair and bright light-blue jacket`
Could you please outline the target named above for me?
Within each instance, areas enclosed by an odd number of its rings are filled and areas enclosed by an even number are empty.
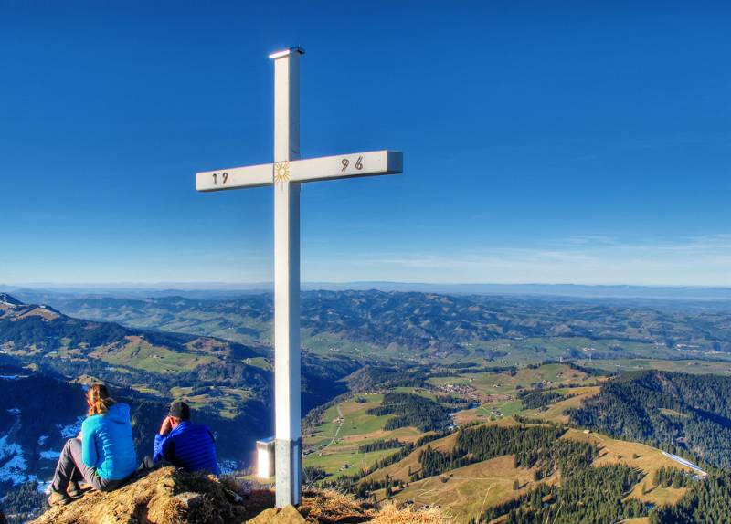
[[[81,433],[61,451],[48,503],[68,504],[82,495],[79,481],[111,491],[137,469],[132,442],[130,406],[111,398],[106,386],[94,384],[86,395],[89,413]]]

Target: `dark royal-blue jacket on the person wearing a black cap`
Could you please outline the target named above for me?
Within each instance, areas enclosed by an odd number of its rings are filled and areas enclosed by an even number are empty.
[[[167,435],[154,435],[153,460],[165,458],[187,471],[207,471],[218,476],[221,470],[215,442],[207,426],[183,421]]]

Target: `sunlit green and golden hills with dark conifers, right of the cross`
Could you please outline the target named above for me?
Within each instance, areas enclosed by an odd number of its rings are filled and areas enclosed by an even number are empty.
[[[362,498],[435,505],[456,522],[609,524],[622,517],[635,523],[664,524],[674,518],[720,523],[731,517],[724,507],[731,476],[706,466],[703,471],[669,453],[695,460],[692,451],[668,442],[655,447],[611,437],[572,423],[572,414],[591,409],[605,388],[630,377],[601,377],[561,363],[513,370],[468,367],[443,374],[436,367],[434,376],[420,377],[418,386],[394,385],[388,373],[370,374],[365,382],[359,376],[356,384],[363,389],[308,417],[309,476]],[[663,374],[676,384],[728,380]],[[418,420],[395,428],[389,422],[405,410],[379,409],[392,402],[386,392],[432,399],[445,413],[457,409],[451,413],[456,430],[424,431]],[[450,408],[455,398],[469,402]],[[470,405],[475,399],[477,407]],[[602,416],[611,419],[612,406],[601,405]],[[722,402],[713,407],[718,414],[724,409]],[[706,509],[705,519],[698,520]]]

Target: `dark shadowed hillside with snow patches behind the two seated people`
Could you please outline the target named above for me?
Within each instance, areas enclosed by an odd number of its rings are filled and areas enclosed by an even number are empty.
[[[353,362],[305,355],[304,409],[345,391]],[[111,385],[132,405],[143,456],[172,399],[217,433],[226,469],[249,464],[257,438],[272,432],[270,350],[182,333],[80,320],[49,306],[0,295],[0,493],[44,480],[85,412],[82,387]],[[53,409],[48,409],[53,406]]]

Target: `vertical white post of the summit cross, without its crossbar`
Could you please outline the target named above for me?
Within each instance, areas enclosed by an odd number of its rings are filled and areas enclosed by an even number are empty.
[[[278,508],[302,498],[300,377],[300,183],[289,162],[300,158],[300,47],[274,60],[274,403]],[[286,166],[286,167],[285,167]]]

